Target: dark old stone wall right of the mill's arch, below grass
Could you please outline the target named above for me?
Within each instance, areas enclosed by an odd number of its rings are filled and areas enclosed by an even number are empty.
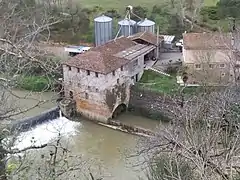
[[[147,89],[131,87],[129,111],[151,119],[169,122],[172,117],[171,109],[177,102],[161,93]]]

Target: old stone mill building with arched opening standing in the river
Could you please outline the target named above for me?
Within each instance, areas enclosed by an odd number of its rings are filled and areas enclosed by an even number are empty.
[[[81,115],[108,122],[128,106],[130,86],[139,81],[144,57],[157,48],[120,37],[63,63],[64,94]]]

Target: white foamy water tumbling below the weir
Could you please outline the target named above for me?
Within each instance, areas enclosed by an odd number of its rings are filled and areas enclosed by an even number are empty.
[[[56,141],[59,136],[69,138],[76,135],[80,122],[70,121],[65,117],[59,117],[35,128],[22,132],[17,137],[12,149],[22,150],[30,146],[41,146]]]

